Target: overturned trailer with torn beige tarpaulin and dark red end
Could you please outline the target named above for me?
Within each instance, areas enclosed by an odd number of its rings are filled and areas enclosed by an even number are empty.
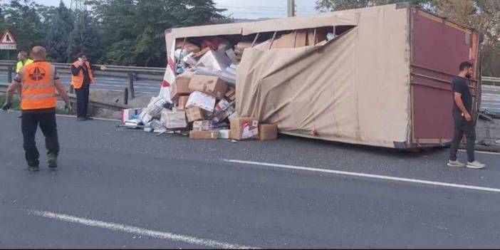
[[[316,41],[316,32],[325,28],[333,38]],[[313,44],[294,41],[293,48],[273,48],[277,35],[297,30],[313,31]],[[175,28],[165,34],[169,67],[160,93],[165,98],[175,80],[176,41],[207,36],[250,41],[238,66],[237,113],[277,123],[283,134],[394,148],[446,145],[453,132],[451,80],[462,61],[475,67],[470,88],[479,110],[479,33],[416,6]],[[255,48],[262,41],[270,41],[269,48]]]

